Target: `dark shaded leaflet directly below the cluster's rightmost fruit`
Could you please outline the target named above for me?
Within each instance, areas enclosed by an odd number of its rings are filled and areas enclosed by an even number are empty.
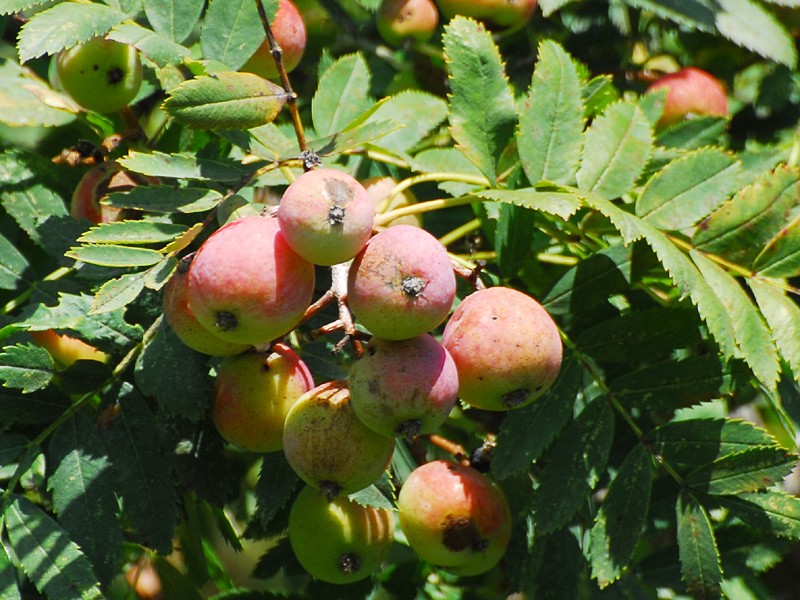
[[[539,458],[572,416],[575,399],[583,387],[582,379],[580,363],[567,357],[556,383],[544,396],[503,420],[492,452],[495,477],[524,471]]]

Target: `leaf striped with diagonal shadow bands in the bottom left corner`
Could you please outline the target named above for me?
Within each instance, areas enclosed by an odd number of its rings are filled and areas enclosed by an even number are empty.
[[[22,496],[5,511],[11,547],[36,589],[51,600],[101,600],[92,566],[67,533]]]

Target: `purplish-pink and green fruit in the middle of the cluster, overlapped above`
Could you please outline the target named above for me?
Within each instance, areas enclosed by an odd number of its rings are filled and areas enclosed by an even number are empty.
[[[410,439],[435,431],[458,399],[455,362],[427,333],[409,340],[372,338],[347,381],[358,418],[388,436]]]

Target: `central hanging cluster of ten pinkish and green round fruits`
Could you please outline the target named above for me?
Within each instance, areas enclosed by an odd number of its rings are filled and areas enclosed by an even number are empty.
[[[182,259],[163,296],[175,334],[222,357],[213,404],[222,437],[283,451],[307,484],[290,542],[312,575],[335,583],[368,576],[391,546],[391,512],[348,495],[387,470],[396,438],[436,432],[459,398],[492,411],[525,406],[561,363],[554,322],[516,290],[478,289],[448,319],[456,275],[446,249],[407,223],[375,232],[375,205],[385,201],[341,171],[307,171],[274,214],[230,221]],[[316,267],[334,265],[345,268],[342,302],[371,337],[346,381],[317,383],[284,338],[309,311]],[[423,464],[397,507],[409,544],[434,564],[476,574],[504,553],[508,504],[468,466]]]

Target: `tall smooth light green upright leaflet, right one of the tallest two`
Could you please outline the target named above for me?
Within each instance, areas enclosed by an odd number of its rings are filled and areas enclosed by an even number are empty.
[[[519,115],[520,162],[531,183],[573,183],[583,145],[581,81],[571,57],[555,42],[542,42],[538,56]]]

